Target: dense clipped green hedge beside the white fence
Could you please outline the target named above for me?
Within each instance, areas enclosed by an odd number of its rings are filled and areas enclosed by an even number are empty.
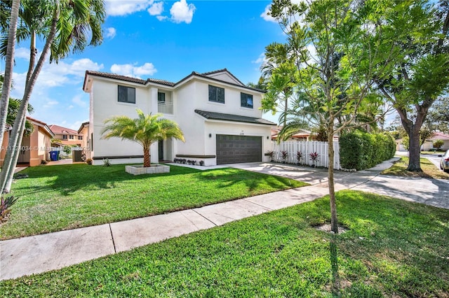
[[[394,157],[396,143],[389,134],[351,132],[340,136],[340,165],[357,171]]]

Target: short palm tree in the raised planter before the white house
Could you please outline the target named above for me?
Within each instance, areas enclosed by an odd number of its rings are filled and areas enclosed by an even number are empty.
[[[156,141],[174,138],[185,141],[184,134],[176,122],[168,119],[159,119],[161,114],[145,115],[140,109],[138,118],[131,119],[127,116],[114,116],[105,120],[106,127],[102,129],[103,139],[118,137],[122,140],[130,140],[140,143],[143,147],[143,166],[149,167],[149,147]]]

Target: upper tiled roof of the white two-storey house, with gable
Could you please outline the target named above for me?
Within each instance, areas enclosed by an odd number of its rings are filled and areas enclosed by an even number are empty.
[[[229,82],[229,81],[226,81],[226,80],[220,80],[218,78],[213,78],[212,76],[210,76],[212,74],[221,73],[221,72],[226,72],[229,76],[234,78],[239,83],[232,83],[232,82]],[[136,83],[136,84],[140,84],[140,85],[146,85],[147,83],[154,83],[154,84],[159,84],[159,85],[166,85],[166,86],[169,86],[169,87],[177,87],[179,85],[182,85],[182,83],[184,83],[186,80],[189,80],[189,78],[192,78],[193,76],[196,76],[198,78],[206,78],[208,80],[214,80],[214,81],[216,81],[218,83],[224,83],[224,84],[227,84],[227,85],[234,85],[234,86],[241,87],[241,88],[244,88],[244,89],[265,93],[264,90],[260,90],[260,89],[253,88],[253,87],[248,87],[245,84],[241,83],[241,81],[238,78],[236,78],[236,76],[234,76],[232,73],[230,73],[227,69],[220,69],[220,70],[217,70],[217,71],[210,71],[210,72],[207,72],[207,73],[198,73],[196,71],[192,71],[192,73],[190,73],[188,76],[185,76],[185,78],[182,78],[181,80],[177,81],[177,83],[169,82],[168,80],[159,80],[159,79],[155,79],[155,78],[147,78],[147,80],[142,80],[140,78],[132,78],[132,77],[129,77],[129,76],[121,76],[121,75],[118,75],[116,73],[104,73],[104,72],[101,72],[101,71],[86,71],[86,75],[84,76],[84,84],[83,84],[83,90],[85,90],[85,91],[86,91],[87,77],[89,75],[90,76],[98,76],[98,77],[101,77],[101,78],[112,78],[114,80],[122,80],[122,81],[125,81],[125,82]]]

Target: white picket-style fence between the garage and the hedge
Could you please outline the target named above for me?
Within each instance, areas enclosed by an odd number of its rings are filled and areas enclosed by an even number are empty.
[[[316,166],[329,167],[328,143],[319,141],[286,141],[281,143],[272,143],[274,152],[274,162],[286,162],[286,164],[297,164],[297,152],[302,153],[302,159],[299,163],[311,166],[314,164],[310,158],[310,153],[318,153]],[[286,159],[282,158],[282,151],[287,152]],[[334,169],[340,169],[340,146],[334,141]]]

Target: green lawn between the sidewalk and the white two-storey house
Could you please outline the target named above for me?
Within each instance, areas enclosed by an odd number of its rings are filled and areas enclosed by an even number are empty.
[[[25,169],[12,187],[17,203],[0,226],[0,239],[100,225],[255,196],[302,183],[239,169],[133,176],[124,165],[67,164]]]

